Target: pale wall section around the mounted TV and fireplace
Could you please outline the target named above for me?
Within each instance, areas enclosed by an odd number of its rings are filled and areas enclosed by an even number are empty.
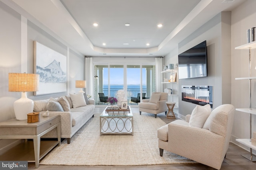
[[[178,43],[178,53],[175,51],[166,56],[165,62],[175,61],[172,58],[178,60],[178,54],[206,40],[208,57],[207,77],[178,80],[178,113],[181,116],[191,114],[196,106],[196,104],[181,100],[180,89],[184,85],[213,86],[213,109],[221,104],[231,103],[230,47],[227,47],[227,43],[230,44],[230,20],[231,12],[221,12]]]

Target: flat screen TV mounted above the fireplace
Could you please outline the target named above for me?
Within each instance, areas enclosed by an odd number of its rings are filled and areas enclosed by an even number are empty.
[[[178,55],[179,79],[207,76],[206,41]]]

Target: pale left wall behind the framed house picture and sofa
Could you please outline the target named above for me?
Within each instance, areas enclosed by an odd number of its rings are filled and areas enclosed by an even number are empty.
[[[75,89],[75,80],[85,78],[85,58],[70,50],[66,43],[60,42],[36,24],[0,2],[0,121],[15,117],[13,103],[21,97],[20,92],[8,92],[8,73],[27,72],[33,73],[33,41],[38,41],[54,51],[68,58],[68,91],[64,93],[33,96],[28,92],[28,98],[39,100],[58,97],[68,92],[78,92]],[[70,87],[70,88],[69,88]],[[0,139],[0,153],[13,140]]]

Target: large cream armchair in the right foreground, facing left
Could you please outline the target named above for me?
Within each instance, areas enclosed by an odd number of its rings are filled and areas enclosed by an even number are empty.
[[[158,129],[160,156],[167,150],[219,170],[230,142],[234,106],[218,106],[203,128],[191,127],[189,120],[187,115],[186,121],[176,120]]]

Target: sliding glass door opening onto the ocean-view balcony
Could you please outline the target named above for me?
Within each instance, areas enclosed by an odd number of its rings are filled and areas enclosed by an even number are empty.
[[[106,104],[100,101],[99,93],[103,93],[107,97],[116,97],[116,92],[124,89],[127,92],[128,104],[137,105],[140,100],[149,98],[154,92],[154,71],[154,65],[95,64],[94,95],[96,104]],[[131,100],[131,98],[138,98],[138,100]]]

